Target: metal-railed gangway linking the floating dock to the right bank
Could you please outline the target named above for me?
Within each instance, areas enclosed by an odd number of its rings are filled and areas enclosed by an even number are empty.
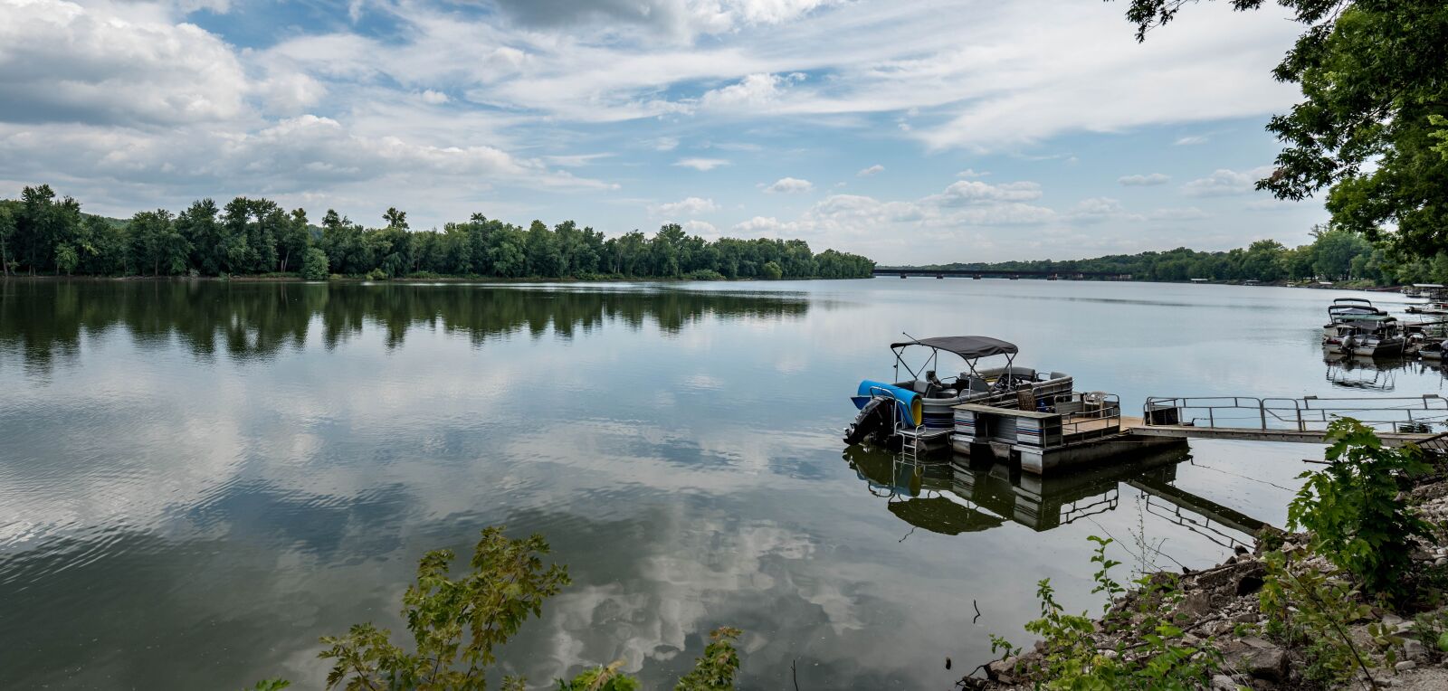
[[[1354,418],[1386,432],[1426,432],[1448,426],[1448,399],[1436,393],[1383,398],[1151,396],[1142,408],[1147,426],[1189,425],[1244,429],[1322,431]]]

